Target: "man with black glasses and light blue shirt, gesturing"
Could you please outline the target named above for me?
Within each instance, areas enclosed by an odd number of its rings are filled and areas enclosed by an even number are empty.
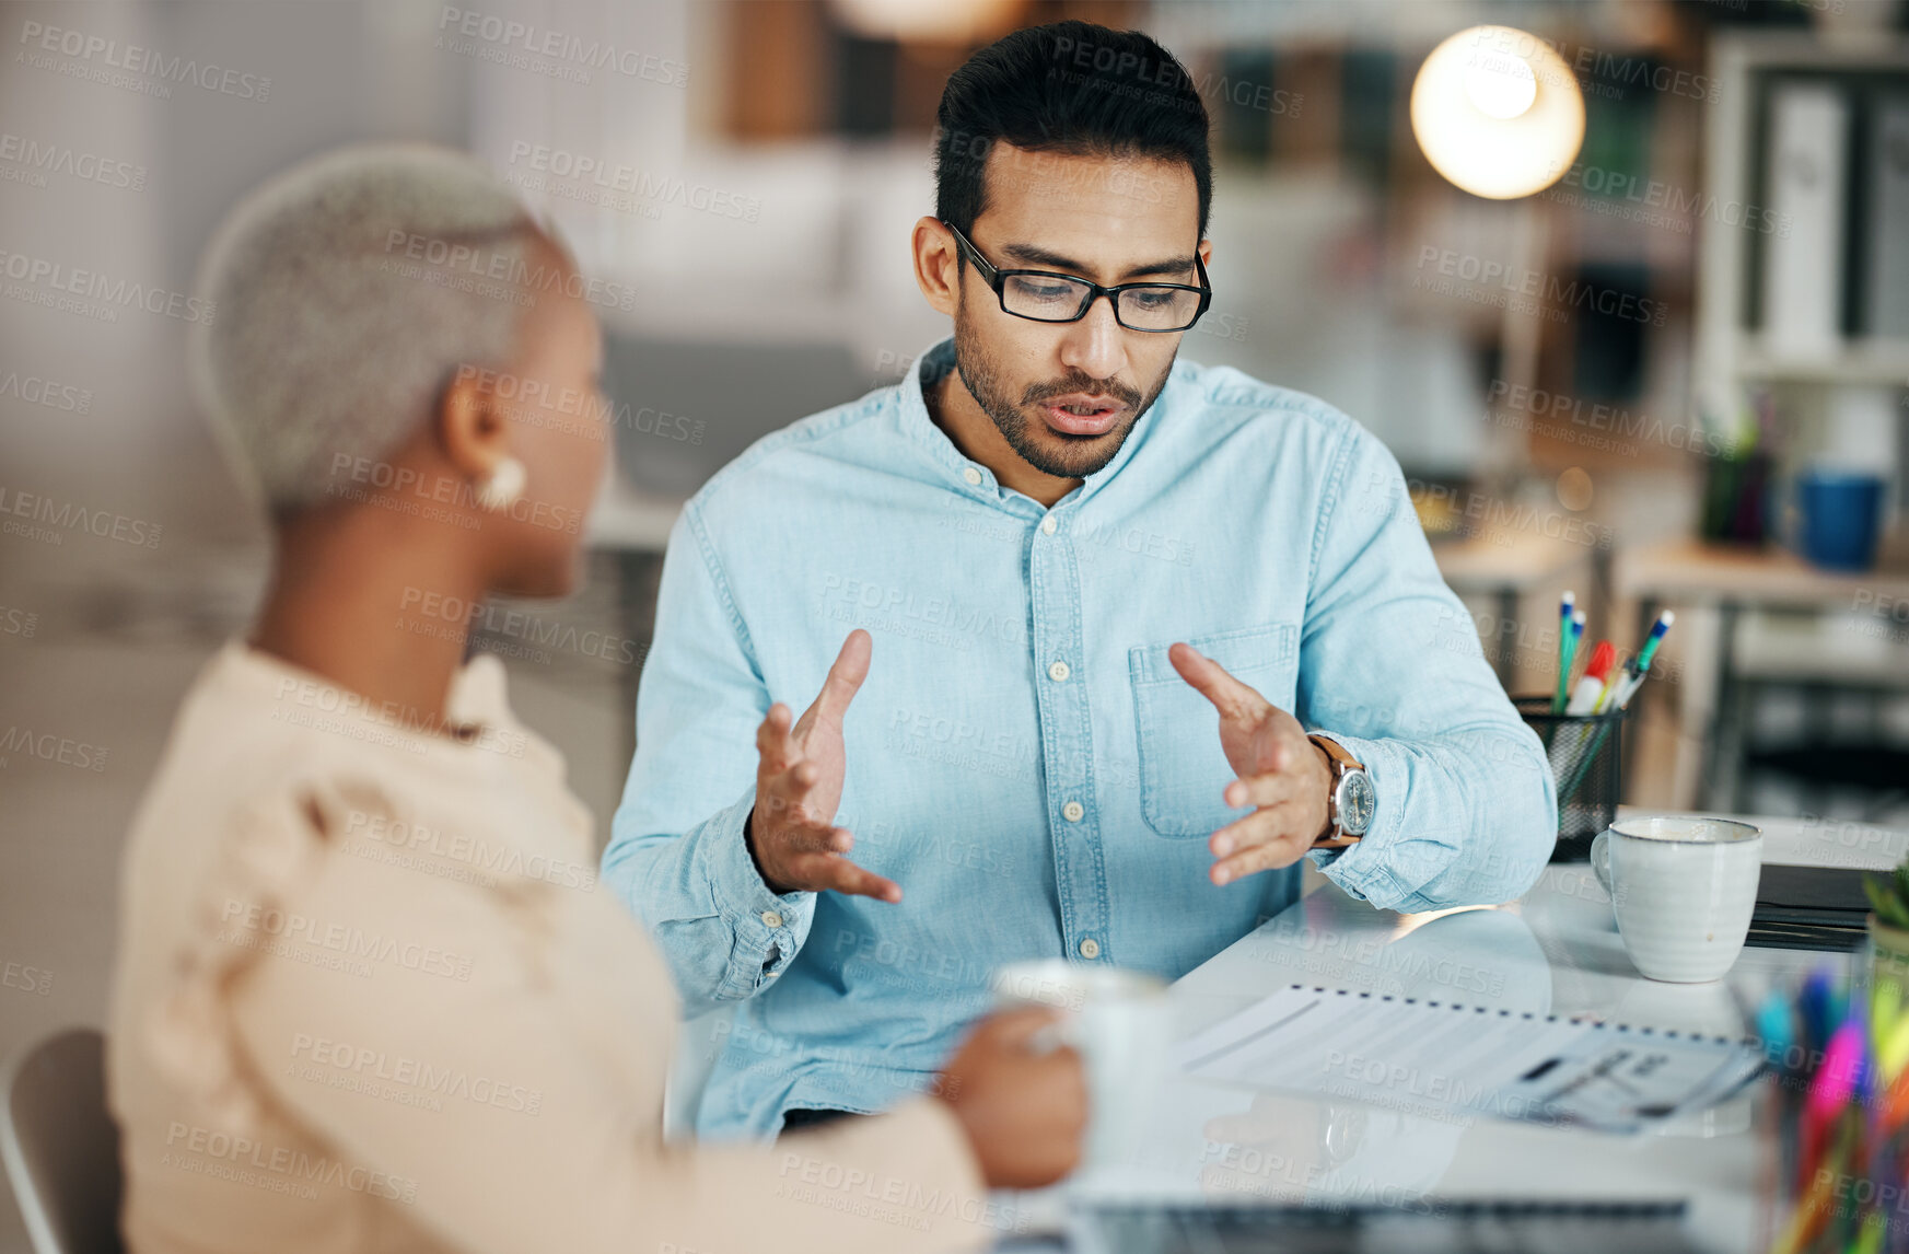
[[[691,1012],[739,1004],[704,1134],[930,1084],[1006,962],[1176,977],[1300,857],[1434,910],[1516,897],[1556,832],[1384,445],[1176,363],[1212,298],[1180,63],[1010,34],[949,78],[935,178],[914,271],[953,340],[670,536],[603,878]]]

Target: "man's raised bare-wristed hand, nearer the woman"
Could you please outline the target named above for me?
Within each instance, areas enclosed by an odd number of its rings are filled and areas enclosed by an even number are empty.
[[[869,634],[855,628],[842,641],[815,704],[790,727],[777,700],[756,727],[756,807],[743,840],[771,893],[834,889],[901,901],[901,886],[842,857],[855,838],[834,825],[842,804],[842,716],[869,678]]]

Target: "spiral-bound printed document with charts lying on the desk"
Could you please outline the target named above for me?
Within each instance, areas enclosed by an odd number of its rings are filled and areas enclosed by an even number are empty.
[[[1752,1040],[1306,985],[1180,1042],[1176,1061],[1231,1084],[1604,1132],[1722,1101],[1764,1065]]]

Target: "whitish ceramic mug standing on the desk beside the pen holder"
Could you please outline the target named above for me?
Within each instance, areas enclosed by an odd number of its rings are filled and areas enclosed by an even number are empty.
[[[1611,895],[1636,968],[1651,979],[1705,983],[1743,952],[1764,834],[1731,819],[1621,819],[1590,842],[1590,868]]]

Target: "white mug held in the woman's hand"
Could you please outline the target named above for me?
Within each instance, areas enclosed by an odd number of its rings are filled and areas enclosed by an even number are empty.
[[[995,1006],[1054,1006],[1059,1040],[1080,1052],[1088,1086],[1082,1166],[1132,1166],[1145,1147],[1153,1094],[1172,1065],[1166,981],[1115,966],[1037,958],[1012,962],[991,981]]]

